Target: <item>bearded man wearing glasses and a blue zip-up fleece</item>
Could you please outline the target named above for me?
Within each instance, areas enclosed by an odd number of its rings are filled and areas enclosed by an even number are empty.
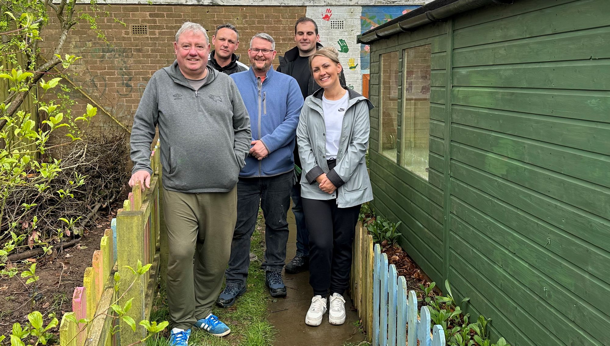
[[[265,283],[272,297],[285,297],[282,269],[286,259],[290,191],[293,186],[296,125],[303,96],[298,83],[273,70],[275,41],[268,34],[254,35],[248,57],[250,70],[231,74],[248,109],[252,147],[237,182],[237,224],[231,244],[226,288],[218,297],[228,307],[246,291],[250,236],[260,207],[265,217]]]

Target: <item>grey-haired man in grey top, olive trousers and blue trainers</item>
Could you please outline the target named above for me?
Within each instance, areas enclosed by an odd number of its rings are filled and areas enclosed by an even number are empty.
[[[188,345],[193,325],[214,336],[231,331],[212,314],[212,304],[231,253],[236,184],[251,132],[231,77],[207,67],[206,30],[184,23],[174,50],[176,61],[152,75],[135,113],[129,185],[140,181],[149,187],[150,145],[158,126],[169,243],[170,344],[181,346]]]

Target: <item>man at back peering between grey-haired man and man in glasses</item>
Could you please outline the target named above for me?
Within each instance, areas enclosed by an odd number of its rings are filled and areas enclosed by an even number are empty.
[[[214,50],[210,52],[207,65],[226,74],[248,70],[248,66],[239,62],[239,57],[235,55],[239,47],[239,32],[233,24],[218,26],[212,35],[212,45]]]

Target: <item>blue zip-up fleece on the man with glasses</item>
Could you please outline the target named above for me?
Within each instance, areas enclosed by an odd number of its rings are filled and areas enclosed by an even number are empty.
[[[246,165],[239,176],[274,176],[293,170],[296,126],[303,107],[303,95],[296,79],[273,67],[262,83],[253,69],[230,77],[248,110],[252,140],[261,140],[269,151],[262,160],[246,157]]]

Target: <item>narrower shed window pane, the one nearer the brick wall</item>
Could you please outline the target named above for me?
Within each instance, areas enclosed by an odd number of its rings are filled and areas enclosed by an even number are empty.
[[[381,54],[381,154],[396,162],[398,128],[398,52]]]

